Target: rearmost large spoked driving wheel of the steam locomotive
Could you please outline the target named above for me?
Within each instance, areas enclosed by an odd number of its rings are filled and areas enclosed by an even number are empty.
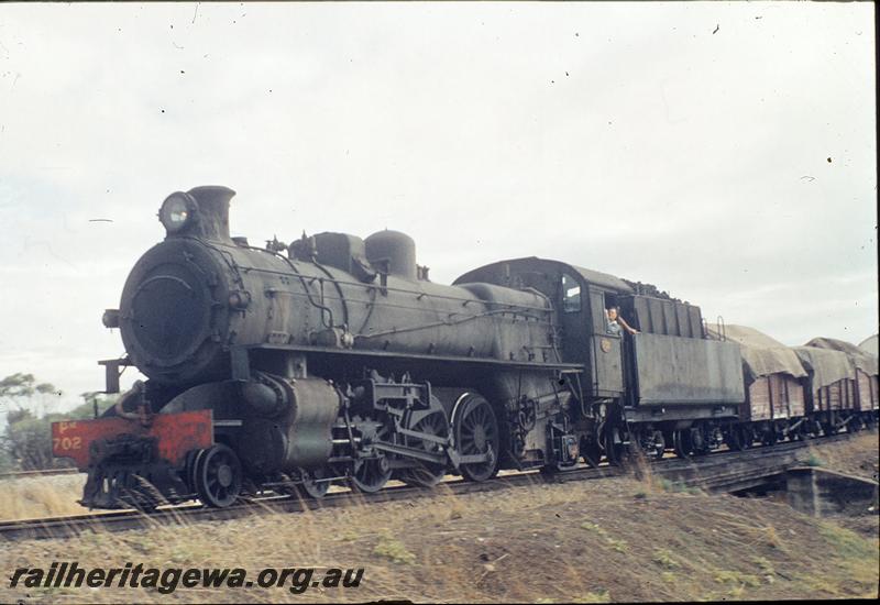
[[[455,425],[455,446],[461,455],[488,453],[485,462],[461,464],[462,476],[468,481],[486,481],[498,470],[498,420],[492,406],[480,395],[468,395],[461,406]]]

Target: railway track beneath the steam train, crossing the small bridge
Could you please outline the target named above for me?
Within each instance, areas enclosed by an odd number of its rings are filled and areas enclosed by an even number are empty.
[[[25,539],[67,538],[82,531],[124,531],[163,525],[190,524],[206,520],[242,518],[254,513],[299,513],[307,509],[336,508],[358,504],[375,504],[395,501],[411,501],[442,493],[455,495],[493,492],[510,487],[547,483],[591,481],[635,473],[650,473],[674,483],[701,487],[707,492],[745,490],[768,475],[784,472],[802,463],[799,454],[807,451],[811,443],[826,444],[848,439],[850,433],[825,437],[815,441],[794,441],[771,448],[756,448],[743,452],[721,451],[689,460],[663,459],[650,463],[628,463],[625,466],[580,466],[571,471],[547,474],[540,471],[505,474],[483,483],[471,483],[460,479],[441,483],[433,490],[406,485],[392,486],[375,494],[358,492],[330,493],[319,501],[295,496],[260,497],[228,508],[209,508],[198,504],[160,508],[151,514],[138,510],[119,510],[67,517],[20,519],[0,521],[0,538],[8,541]]]

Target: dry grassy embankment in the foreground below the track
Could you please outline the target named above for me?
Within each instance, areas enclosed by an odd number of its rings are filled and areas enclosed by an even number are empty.
[[[838,446],[840,446],[838,448]],[[846,446],[846,450],[843,448]],[[876,461],[877,436],[816,448]],[[878,595],[878,517],[859,531],[767,499],[676,493],[646,476],[438,495],[297,515],[0,544],[0,571],[48,566],[363,566],[356,590],[16,590],[14,602],[411,600],[604,602]]]

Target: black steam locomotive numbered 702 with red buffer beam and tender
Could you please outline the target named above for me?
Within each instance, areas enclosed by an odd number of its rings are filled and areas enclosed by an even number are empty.
[[[616,463],[632,449],[745,448],[768,430],[744,411],[740,345],[713,336],[696,306],[537,257],[439,285],[414,241],[387,230],[252,246],[230,237],[233,196],[168,196],[164,241],[105,312],[127,352],[100,362],[106,392],[119,393],[125,366],[147,380],[100,418],[53,425],[54,454],[88,473],[86,506],[224,507],[266,491],[321,497],[333,483],[432,486],[450,473],[480,482]],[[612,306],[640,333],[609,331]],[[866,409],[811,407],[802,416],[817,429],[793,415],[780,425],[771,409],[770,430],[801,438],[871,421],[870,378]]]

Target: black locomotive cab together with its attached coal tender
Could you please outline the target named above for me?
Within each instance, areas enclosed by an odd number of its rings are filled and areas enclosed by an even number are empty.
[[[582,366],[582,451],[616,460],[636,441],[653,455],[675,443],[682,455],[722,444],[744,399],[738,345],[708,341],[698,307],[656,288],[537,257],[472,271],[458,282],[532,287],[556,301],[565,362]],[[619,306],[640,333],[612,333],[606,309]],[[592,420],[591,420],[592,419]]]

